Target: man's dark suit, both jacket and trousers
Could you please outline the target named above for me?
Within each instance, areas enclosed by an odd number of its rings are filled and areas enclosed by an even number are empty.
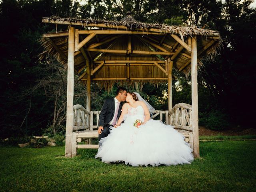
[[[120,115],[121,115],[121,109],[123,106],[124,102],[121,102],[119,105],[119,109],[118,109],[118,114],[117,114],[117,119],[119,119]],[[99,141],[108,136],[109,129],[110,129],[110,121],[113,119],[115,114],[115,101],[114,98],[110,98],[110,99],[106,99],[104,101],[104,104],[101,108],[101,112],[100,112],[100,116],[99,116],[99,122],[98,122],[98,127],[99,126],[103,126],[103,131],[101,134],[99,134]]]

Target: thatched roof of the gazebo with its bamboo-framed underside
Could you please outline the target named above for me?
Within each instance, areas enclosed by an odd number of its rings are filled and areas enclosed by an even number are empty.
[[[133,81],[151,82],[153,84],[166,82],[167,74],[162,69],[166,69],[165,60],[167,58],[174,58],[173,68],[176,71],[188,75],[190,72],[191,52],[183,48],[189,44],[188,37],[197,36],[199,67],[202,66],[204,58],[214,58],[222,42],[219,33],[214,30],[206,30],[196,26],[142,23],[137,22],[130,15],[120,21],[58,18],[53,16],[43,18],[43,22],[76,26],[77,29],[83,30],[79,35],[80,42],[92,32],[96,32],[97,35],[86,42],[83,48],[90,60],[91,70],[104,62],[100,70],[97,70],[92,75],[92,80],[108,86],[111,86],[116,81],[128,84]],[[110,33],[104,34],[102,33],[103,30],[108,30]],[[129,38],[131,52],[128,51]],[[67,64],[68,31],[44,34],[40,42],[45,48],[41,58],[46,54],[51,54],[60,63]],[[114,51],[111,52],[111,50],[123,51],[115,53]],[[154,52],[159,52],[159,54]],[[176,52],[177,54],[175,54]],[[173,57],[174,55],[175,57]],[[74,68],[80,75],[85,74],[81,76],[82,80],[87,78],[87,74],[84,72],[86,70],[85,59],[80,51],[75,52]],[[157,64],[158,66],[156,66]],[[116,80],[100,81],[100,78],[103,80],[116,78]]]

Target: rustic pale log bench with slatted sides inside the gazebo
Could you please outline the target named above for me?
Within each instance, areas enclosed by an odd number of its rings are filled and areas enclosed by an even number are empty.
[[[193,131],[191,123],[192,106],[185,103],[176,104],[170,114],[168,111],[155,110],[151,118],[155,119],[159,115],[159,120],[165,124],[174,126],[181,134],[184,135],[185,141],[190,144],[193,149]],[[98,144],[92,144],[92,138],[98,138],[97,123],[100,111],[88,112],[81,105],[74,105],[74,126],[72,133],[72,156],[76,156],[77,149],[97,149]],[[85,144],[79,144],[82,141]]]

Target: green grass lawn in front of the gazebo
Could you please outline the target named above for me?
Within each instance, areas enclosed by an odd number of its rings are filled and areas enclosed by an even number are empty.
[[[97,150],[63,158],[64,146],[0,147],[0,191],[255,191],[256,141],[200,142],[189,165],[131,167],[94,159]]]

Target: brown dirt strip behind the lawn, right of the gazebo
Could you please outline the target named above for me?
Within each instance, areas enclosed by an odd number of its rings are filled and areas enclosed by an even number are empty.
[[[228,130],[215,131],[207,129],[204,126],[199,126],[199,136],[214,136],[214,135],[223,135],[223,136],[239,136],[239,135],[256,135],[256,128],[232,128]]]

